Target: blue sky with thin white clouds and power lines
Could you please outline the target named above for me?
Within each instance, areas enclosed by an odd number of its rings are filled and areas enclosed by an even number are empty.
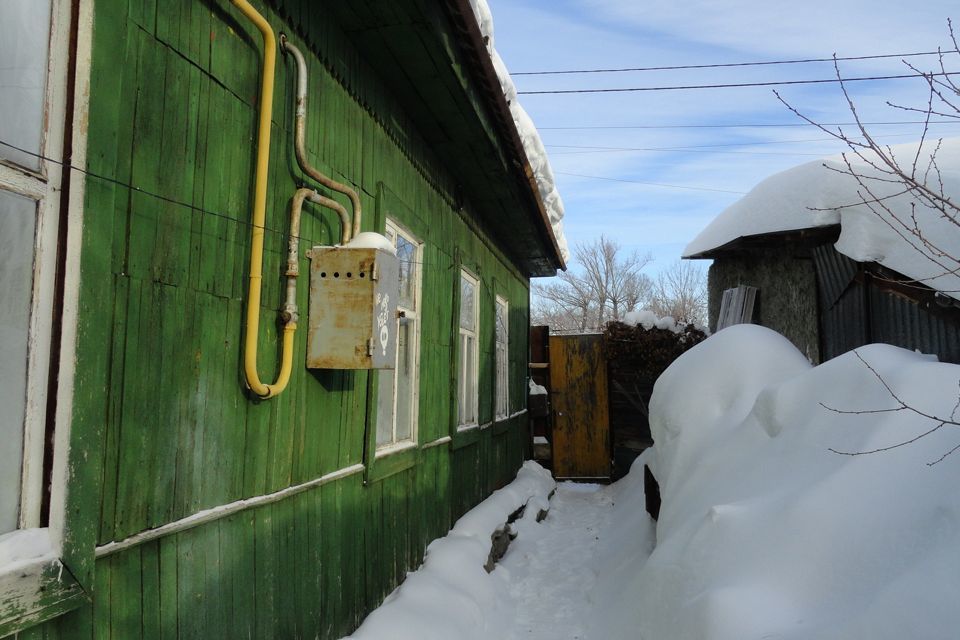
[[[495,46],[520,92],[830,78],[831,63],[517,74],[934,51],[950,46],[947,18],[956,7],[947,0],[489,4]],[[954,14],[960,22],[960,11]],[[909,60],[922,69],[937,64],[932,56]],[[951,63],[954,70],[960,66],[956,56]],[[897,58],[842,62],[841,71],[845,77],[909,72]],[[915,120],[884,102],[919,105],[926,97],[921,80],[858,82],[850,90],[865,121]],[[836,85],[793,85],[781,93],[814,120],[851,119]],[[843,149],[812,127],[796,126],[801,121],[777,101],[770,87],[519,99],[540,129],[557,174],[571,248],[604,234],[628,250],[651,252],[655,262],[648,267],[650,275],[679,258],[687,242],[738,194],[772,173]],[[876,125],[872,131],[892,144],[917,139],[921,128]],[[937,125],[933,132],[960,135],[960,123]]]

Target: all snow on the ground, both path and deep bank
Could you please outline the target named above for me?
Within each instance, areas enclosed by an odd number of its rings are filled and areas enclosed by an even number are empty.
[[[958,638],[958,403],[960,367],[929,356],[872,345],[814,368],[768,329],[724,329],[657,382],[657,444],[626,478],[559,485],[487,574],[488,530],[553,486],[528,463],[353,637]]]

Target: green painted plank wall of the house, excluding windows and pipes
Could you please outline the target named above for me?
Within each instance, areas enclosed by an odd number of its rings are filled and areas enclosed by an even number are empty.
[[[493,415],[495,293],[510,304],[511,407],[525,407],[526,278],[453,208],[455,177],[404,128],[336,24],[306,1],[299,11],[285,3],[295,14],[286,22],[254,4],[308,54],[312,162],[359,189],[364,229],[382,229],[381,183],[414,212],[401,222],[425,242],[420,442],[450,433],[458,262],[483,287],[481,422]],[[363,463],[373,374],[306,370],[301,331],[287,391],[266,402],[244,391],[259,34],[226,0],[98,2],[94,29],[73,429],[99,442],[75,461],[98,482],[74,499],[83,508],[68,526],[94,529],[104,546]],[[281,57],[277,73],[259,352],[270,380],[286,211],[301,179],[292,63]],[[338,235],[327,212],[305,211],[302,248]],[[306,296],[304,285],[301,309]],[[19,637],[340,637],[430,540],[513,477],[526,441],[520,413],[472,443],[424,449],[412,468],[368,486],[351,475],[104,555],[92,605]]]

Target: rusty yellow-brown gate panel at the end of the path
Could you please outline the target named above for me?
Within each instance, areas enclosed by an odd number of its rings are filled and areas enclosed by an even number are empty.
[[[603,336],[550,336],[553,473],[610,478],[610,416]]]

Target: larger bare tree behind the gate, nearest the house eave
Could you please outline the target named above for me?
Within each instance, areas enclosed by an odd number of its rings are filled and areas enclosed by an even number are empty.
[[[642,269],[649,254],[624,254],[622,247],[600,236],[574,249],[578,268],[558,276],[558,282],[533,285],[531,322],[549,324],[554,332],[598,331],[645,306],[653,283]]]

